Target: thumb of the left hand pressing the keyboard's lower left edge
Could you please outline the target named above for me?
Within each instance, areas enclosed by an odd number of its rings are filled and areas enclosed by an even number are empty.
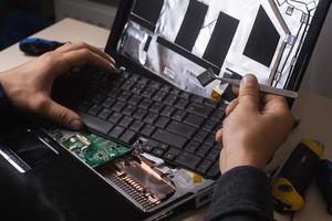
[[[76,113],[48,97],[39,104],[37,112],[41,116],[71,129],[79,130],[83,126],[82,119]]]

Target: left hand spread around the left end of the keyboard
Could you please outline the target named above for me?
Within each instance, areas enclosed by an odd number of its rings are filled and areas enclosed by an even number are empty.
[[[7,97],[21,110],[34,113],[72,129],[83,125],[81,117],[51,99],[56,77],[85,64],[114,70],[114,60],[86,43],[68,43],[21,66],[0,73]]]

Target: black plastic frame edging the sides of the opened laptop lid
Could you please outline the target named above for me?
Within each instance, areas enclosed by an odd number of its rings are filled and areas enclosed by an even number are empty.
[[[288,78],[286,87],[287,90],[299,91],[302,78],[305,74],[307,67],[309,65],[310,59],[314,51],[315,44],[320,36],[322,27],[326,19],[332,0],[321,0],[318,4],[317,12],[313,15],[312,23],[305,36],[303,46],[301,49],[300,55],[297,60],[292,75]],[[125,24],[128,20],[132,8],[135,3],[135,0],[122,0],[118,6],[118,11],[113,23],[110,38],[105,48],[105,52],[112,55],[118,65],[125,66],[128,71],[138,73],[141,75],[148,76],[151,78],[163,81],[162,77],[156,76],[151,71],[144,69],[143,66],[134,63],[131,59],[125,57],[117,53],[116,48]]]

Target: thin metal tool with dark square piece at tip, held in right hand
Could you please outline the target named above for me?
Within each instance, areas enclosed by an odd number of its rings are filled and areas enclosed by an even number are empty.
[[[230,70],[227,70],[226,73],[232,74],[234,72]],[[240,86],[240,83],[241,83],[241,80],[234,80],[234,78],[229,78],[229,77],[218,77],[212,72],[212,70],[205,71],[204,73],[201,73],[200,75],[197,76],[197,80],[204,87],[209,85],[215,80],[220,81],[222,84],[230,84],[230,85],[235,85],[235,86]],[[274,95],[294,98],[294,99],[298,98],[298,96],[299,96],[299,94],[297,92],[289,91],[289,90],[276,88],[276,87],[271,87],[271,86],[267,86],[267,85],[262,85],[262,84],[259,84],[259,87],[260,87],[261,92],[267,93],[267,94],[274,94]]]

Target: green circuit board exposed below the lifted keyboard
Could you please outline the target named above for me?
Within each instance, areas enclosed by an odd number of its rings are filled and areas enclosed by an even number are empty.
[[[68,136],[61,130],[51,130],[49,135],[91,167],[104,165],[131,151],[126,146],[90,131]]]

